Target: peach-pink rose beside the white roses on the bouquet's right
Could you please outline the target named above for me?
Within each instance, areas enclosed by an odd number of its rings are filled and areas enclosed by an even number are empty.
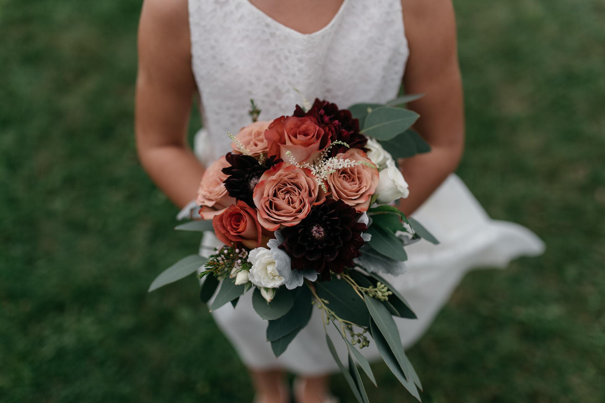
[[[360,149],[348,149],[347,152],[337,156],[372,164],[370,158]],[[371,167],[359,164],[337,170],[328,176],[327,182],[333,198],[341,199],[361,213],[370,207],[370,199],[376,190],[379,178],[378,169],[374,164]]]

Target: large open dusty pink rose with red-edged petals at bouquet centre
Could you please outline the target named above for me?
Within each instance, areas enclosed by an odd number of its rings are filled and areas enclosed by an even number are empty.
[[[269,231],[280,225],[296,225],[309,214],[311,207],[325,199],[321,187],[309,169],[279,163],[263,173],[254,188],[258,221]]]

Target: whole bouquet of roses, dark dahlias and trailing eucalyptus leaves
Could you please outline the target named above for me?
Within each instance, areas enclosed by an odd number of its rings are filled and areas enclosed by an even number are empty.
[[[347,344],[348,368],[326,341],[359,402],[368,402],[356,363],[376,384],[359,352],[376,343],[385,363],[420,399],[393,316],[416,318],[381,275],[405,271],[405,245],[437,240],[391,202],[408,196],[396,166],[429,147],[411,131],[412,100],[338,109],[315,100],[292,116],[257,121],[232,139],[232,152],[204,172],[196,204],[201,220],[177,230],[213,231],[224,245],[208,259],[191,255],[162,272],[149,291],[198,272],[211,310],[253,289],[252,306],[268,321],[267,340],[283,353],[310,320],[312,307]],[[216,291],[218,288],[218,292]],[[212,296],[214,295],[214,298]],[[356,361],[356,363],[355,363]]]

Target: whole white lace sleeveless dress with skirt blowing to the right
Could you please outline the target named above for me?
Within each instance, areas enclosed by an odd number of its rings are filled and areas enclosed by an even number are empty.
[[[250,98],[262,110],[260,119],[271,120],[292,114],[303,97],[326,99],[341,108],[396,97],[409,53],[400,1],[375,0],[370,5],[344,0],[326,27],[301,34],[249,0],[189,0],[192,68],[205,126],[195,137],[200,160],[208,164],[229,152],[226,133],[236,133],[250,122]],[[404,346],[424,334],[466,271],[504,267],[515,257],[544,250],[525,227],[490,219],[456,175],[450,175],[413,216],[441,243],[410,245],[407,273],[388,278],[419,317],[396,318]],[[205,247],[217,244],[214,235],[203,239]],[[208,254],[208,248],[202,247],[201,253]],[[253,311],[251,294],[240,298],[237,309],[227,304],[212,312],[247,366],[282,367],[307,375],[338,371],[318,310],[286,352],[275,358],[265,337],[267,323]],[[339,340],[335,330],[330,331],[332,340]],[[344,343],[336,344],[344,355]],[[372,344],[362,352],[379,358]]]

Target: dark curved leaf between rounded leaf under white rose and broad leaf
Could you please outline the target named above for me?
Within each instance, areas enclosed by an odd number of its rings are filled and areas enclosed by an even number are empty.
[[[307,326],[313,313],[312,294],[309,287],[302,286],[294,297],[292,309],[281,318],[269,321],[267,341],[276,341],[296,329]]]

